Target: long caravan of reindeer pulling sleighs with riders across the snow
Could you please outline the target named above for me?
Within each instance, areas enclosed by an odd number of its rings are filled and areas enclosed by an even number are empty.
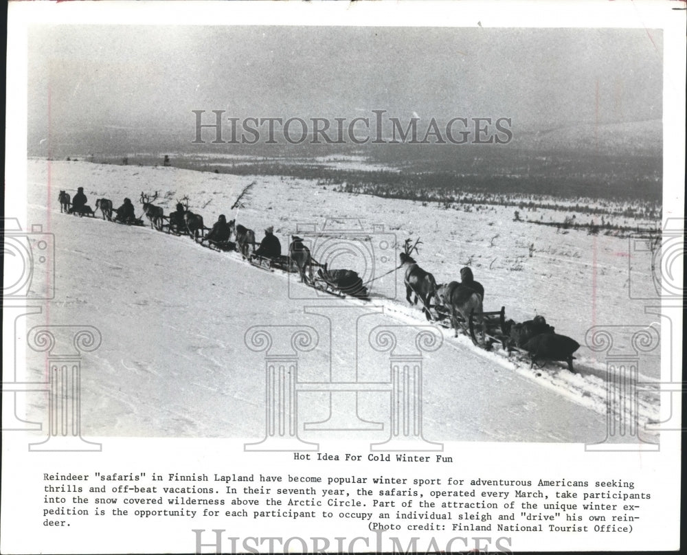
[[[324,293],[339,297],[351,295],[369,300],[368,290],[355,271],[328,269],[326,263],[320,264],[312,258],[302,239],[297,236],[293,236],[289,245],[289,256],[283,256],[279,241],[273,236],[273,229],[268,227],[265,229],[264,239],[256,249],[258,242],[254,231],[243,225],[236,225],[234,220],[227,223],[223,215],[219,216],[212,228],[205,227],[203,217],[188,209],[188,197],[181,199],[185,201],[185,205],[177,200],[177,210],[169,216],[164,215],[162,207],[153,205],[152,201],[155,199],[157,192],[152,199],[142,192],[139,199],[145,216],[150,220],[150,227],[154,229],[166,229],[171,234],[188,235],[201,245],[218,251],[239,251],[245,259],[260,269],[298,272],[302,282]],[[83,188],[78,188],[78,193],[71,202],[69,194],[60,191],[59,201],[61,212],[95,216],[93,209],[86,204]],[[130,199],[124,199],[124,204],[117,209],[113,209],[113,203],[109,199],[98,199],[95,207],[100,209],[103,219],[126,225],[144,225],[142,218],[135,216]],[[204,236],[205,231],[209,233]],[[236,241],[230,240],[232,234],[235,235]],[[493,343],[500,343],[508,352],[508,356],[513,353],[529,356],[530,367],[535,364],[541,367],[547,361],[565,361],[570,371],[574,372],[573,353],[580,347],[577,341],[556,334],[554,327],[547,324],[541,315],[532,320],[516,323],[512,319],[506,320],[503,306],[497,312],[484,312],[484,287],[474,280],[470,268],[465,267],[460,271],[460,282],[436,284],[433,275],[420,268],[410,256],[413,251],[418,252],[420,241],[416,240],[414,245],[410,243],[409,239],[405,241],[398,269],[405,267],[407,301],[417,304],[418,299],[422,300],[423,312],[428,320],[436,319],[444,327],[453,327],[456,337],[460,326],[475,345],[481,345],[487,350],[491,349]],[[319,267],[317,275],[313,275],[313,266]],[[435,302],[433,306],[432,300]],[[434,313],[431,312],[431,308],[434,309]],[[475,321],[482,331],[481,343],[478,343],[475,336]]]

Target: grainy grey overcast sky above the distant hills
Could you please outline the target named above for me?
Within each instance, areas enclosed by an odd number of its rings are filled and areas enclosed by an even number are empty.
[[[57,139],[102,128],[192,138],[199,109],[512,117],[523,131],[654,120],[662,48],[660,30],[36,26],[29,142],[48,122]]]

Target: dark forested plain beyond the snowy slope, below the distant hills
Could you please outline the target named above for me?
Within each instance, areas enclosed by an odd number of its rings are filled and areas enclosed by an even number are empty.
[[[169,164],[177,168],[235,175],[275,175],[317,180],[321,185],[333,185],[335,190],[354,194],[371,194],[390,199],[413,201],[459,201],[464,194],[484,194],[493,197],[488,203],[513,205],[514,196],[537,196],[555,199],[608,199],[615,203],[628,201],[660,205],[662,202],[662,164],[660,157],[628,157],[611,155],[573,155],[570,152],[539,155],[532,152],[501,150],[497,153],[466,149],[460,155],[446,157],[425,149],[431,157],[410,155],[401,163],[375,159],[392,164],[398,170],[338,169],[316,160],[288,157],[270,159],[253,157],[232,163],[231,159],[200,158],[192,155],[171,155]],[[481,152],[481,154],[480,154]],[[444,152],[444,155],[446,152]],[[387,156],[388,157],[388,156]],[[93,159],[122,163],[122,158]],[[392,162],[396,162],[393,164]],[[222,163],[219,163],[222,162]],[[125,163],[146,166],[163,165],[163,158],[129,155]],[[506,202],[505,198],[508,197]],[[533,199],[534,200],[534,199]],[[464,201],[469,202],[469,201]],[[482,201],[484,202],[484,201]],[[589,208],[594,214],[595,208]],[[581,207],[585,212],[585,207]]]

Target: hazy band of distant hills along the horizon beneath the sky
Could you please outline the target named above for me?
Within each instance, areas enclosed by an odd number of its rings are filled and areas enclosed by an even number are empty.
[[[611,156],[652,156],[660,157],[663,145],[663,125],[661,120],[625,122],[616,124],[581,123],[571,126],[521,131],[513,122],[513,140],[506,145],[493,144],[192,144],[192,129],[185,133],[171,129],[124,129],[93,128],[88,131],[53,130],[49,141],[42,137],[30,137],[28,151],[30,156],[45,157],[52,154],[57,159],[69,155],[124,155],[128,152],[216,152],[218,154],[241,154],[257,156],[323,156],[334,154],[359,153],[402,163],[406,157],[414,159],[442,159],[449,157],[472,158],[474,152],[482,157],[500,157],[504,151],[525,150],[541,155],[555,152],[574,154],[589,153]]]

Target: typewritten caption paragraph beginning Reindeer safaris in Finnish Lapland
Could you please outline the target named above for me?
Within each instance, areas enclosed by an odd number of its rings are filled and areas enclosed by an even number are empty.
[[[505,479],[436,473],[44,473],[46,527],[89,518],[345,519],[368,530],[631,533],[651,492],[623,479]],[[37,515],[38,516],[38,515]]]

